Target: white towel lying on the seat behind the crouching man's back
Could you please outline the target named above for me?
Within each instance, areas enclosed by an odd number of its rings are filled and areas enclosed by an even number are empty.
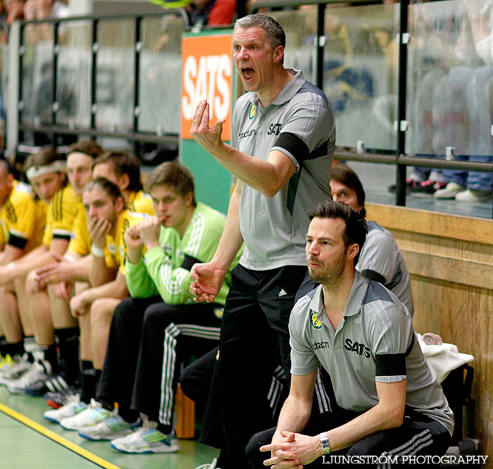
[[[426,361],[435,371],[435,374],[437,374],[437,381],[439,383],[441,383],[452,370],[474,360],[473,355],[460,353],[457,346],[453,343],[444,342],[442,345],[428,346],[423,341],[423,336],[421,336],[421,334],[417,335],[423,355],[425,355]]]

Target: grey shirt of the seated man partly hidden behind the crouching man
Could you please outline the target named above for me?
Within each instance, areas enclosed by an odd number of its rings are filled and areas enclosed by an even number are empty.
[[[413,291],[406,262],[392,233],[376,221],[368,221],[368,236],[361,249],[356,270],[361,273],[372,270],[380,274],[385,279],[382,284],[406,305],[411,317],[413,316]]]

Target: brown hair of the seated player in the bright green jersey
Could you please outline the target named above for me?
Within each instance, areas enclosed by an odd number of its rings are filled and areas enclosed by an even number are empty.
[[[177,162],[164,162],[156,166],[146,180],[146,193],[151,193],[156,185],[170,185],[182,197],[192,193],[192,205],[196,206],[194,176],[186,166]]]

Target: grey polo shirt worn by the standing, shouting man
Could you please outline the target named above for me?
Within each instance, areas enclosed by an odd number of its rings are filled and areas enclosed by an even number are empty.
[[[330,197],[335,147],[332,107],[301,71],[289,72],[294,77],[266,108],[249,92],[239,97],[233,112],[233,147],[263,160],[279,150],[297,166],[272,198],[243,185],[239,221],[245,248],[239,263],[248,269],[306,265],[306,212]]]

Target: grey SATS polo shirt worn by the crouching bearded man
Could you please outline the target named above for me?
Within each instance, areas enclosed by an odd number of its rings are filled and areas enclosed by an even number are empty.
[[[454,418],[435,372],[426,363],[411,315],[391,291],[355,272],[344,317],[335,331],[323,307],[322,286],[300,298],[289,319],[292,374],[322,365],[337,404],[364,412],[378,403],[376,382],[407,377],[406,406],[442,423]]]

